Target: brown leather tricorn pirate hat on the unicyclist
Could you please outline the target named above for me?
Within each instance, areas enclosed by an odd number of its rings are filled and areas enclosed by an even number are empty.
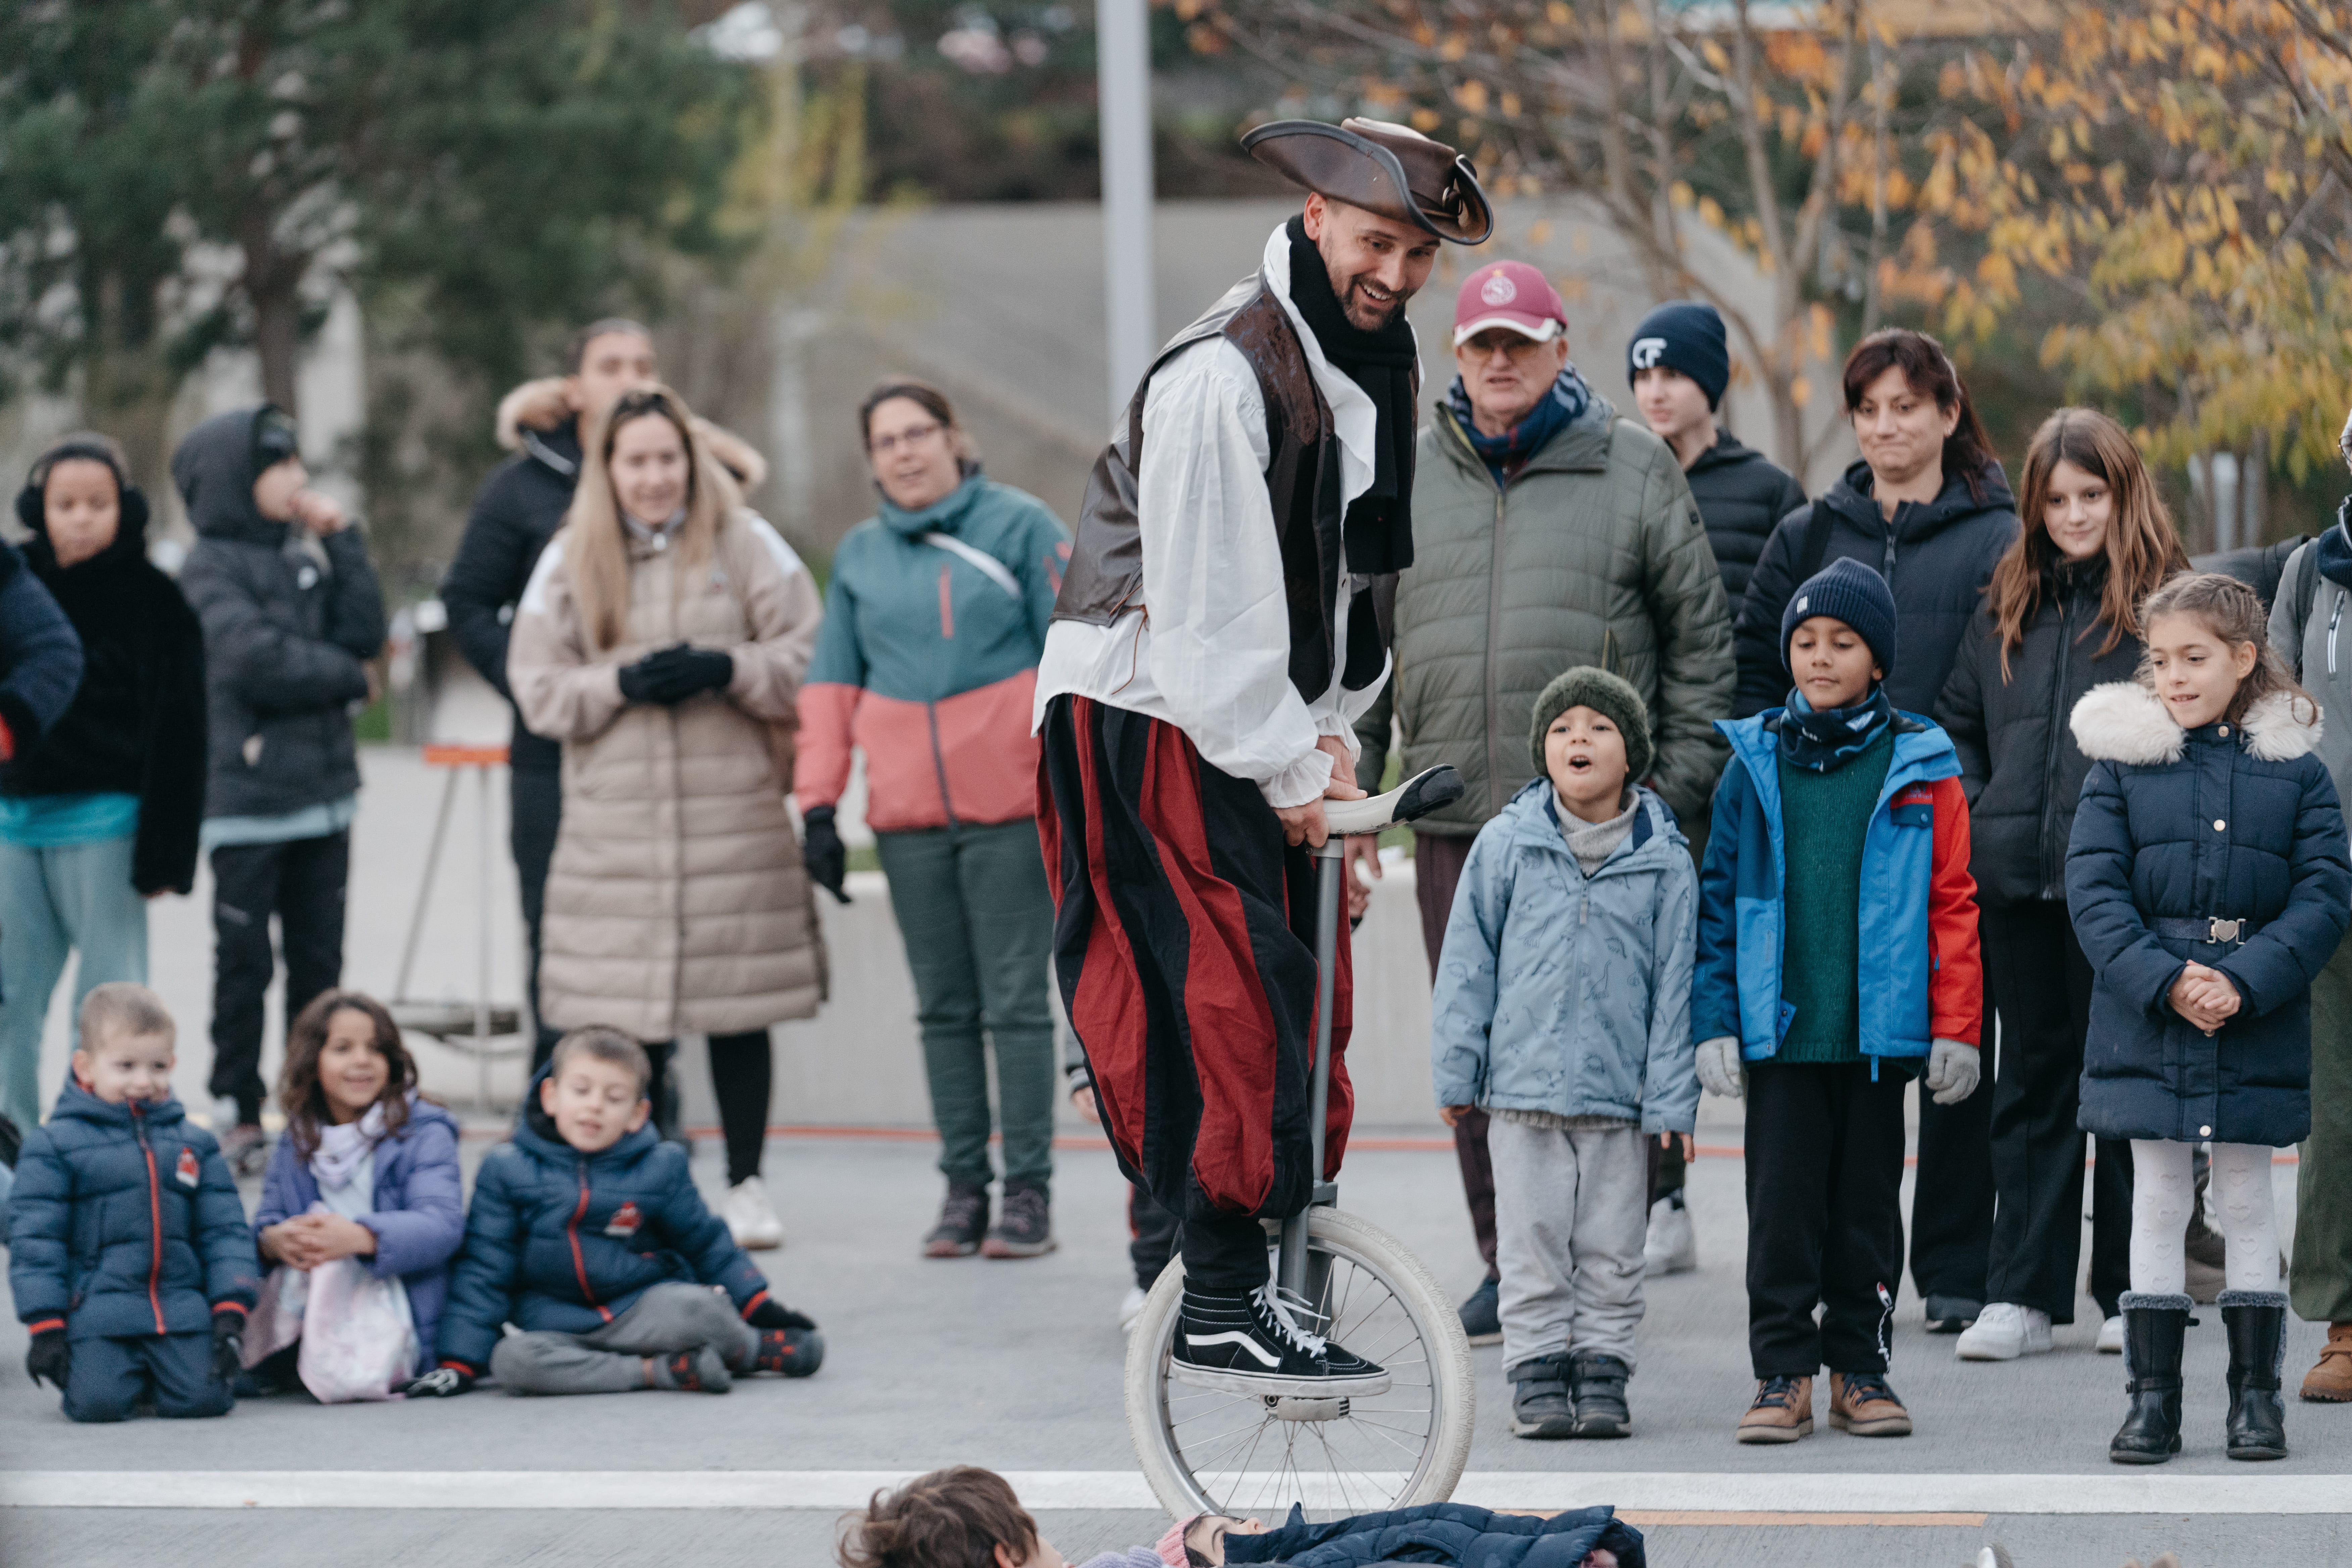
[[[1268,169],[1334,202],[1378,212],[1456,244],[1484,244],[1494,207],[1470,160],[1388,120],[1270,120],[1242,136]]]

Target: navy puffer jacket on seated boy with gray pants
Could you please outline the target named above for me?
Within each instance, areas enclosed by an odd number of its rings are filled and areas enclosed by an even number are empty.
[[[539,1107],[541,1067],[515,1135],[482,1157],[466,1246],[442,1307],[437,1361],[480,1375],[499,1326],[590,1333],[652,1286],[722,1286],[736,1312],[767,1298],[760,1265],[703,1206],[687,1152],[652,1124],[581,1154]]]

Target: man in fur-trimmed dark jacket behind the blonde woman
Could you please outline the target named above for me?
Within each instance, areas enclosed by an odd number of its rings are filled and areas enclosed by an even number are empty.
[[[466,663],[482,672],[508,703],[506,632],[515,602],[532,581],[532,567],[572,508],[572,484],[581,470],[581,418],[595,418],[633,386],[656,383],[654,334],[628,320],[602,320],[572,336],[572,374],[527,381],[499,402],[499,444],[515,456],[499,463],[473,498],[466,536],[442,581],[449,632]],[[546,907],[548,860],[562,823],[564,785],[560,741],[534,736],[515,715],[506,745],[508,849],[522,882],[522,922],[532,933],[532,1018],[539,1018],[539,914]],[[543,1065],[557,1032],[539,1025],[532,1063]]]

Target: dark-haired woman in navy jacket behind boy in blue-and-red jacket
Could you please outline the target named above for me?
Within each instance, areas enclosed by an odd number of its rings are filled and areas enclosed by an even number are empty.
[[[1863,461],[1825,496],[1780,520],[1736,630],[1740,717],[1783,703],[1788,665],[1776,637],[1797,583],[1853,557],[1886,578],[1903,654],[1886,696],[1931,715],[1978,595],[2018,536],[2016,501],[1943,343],[1891,327],[1853,346],[1846,418]],[[1919,1182],[1912,1199],[1912,1279],[1929,1328],[1959,1333],[1985,1305],[1992,1246],[1992,1095],[1919,1105]]]

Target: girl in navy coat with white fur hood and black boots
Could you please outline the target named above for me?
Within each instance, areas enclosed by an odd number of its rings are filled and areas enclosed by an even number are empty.
[[[2180,1453],[2190,1319],[2183,1232],[2190,1154],[2213,1140],[2230,1246],[2232,1460],[2286,1455],[2279,1356],[2286,1295],[2270,1152],[2310,1131],[2310,983],[2352,900],[2345,825],[2314,755],[2319,705],[2279,665],[2244,583],[2183,574],[2140,611],[2138,682],[2074,705],[2091,759],[2067,844],[2067,910],[2098,976],[2082,1126],[2131,1138],[2131,1410],[2119,1465]]]

